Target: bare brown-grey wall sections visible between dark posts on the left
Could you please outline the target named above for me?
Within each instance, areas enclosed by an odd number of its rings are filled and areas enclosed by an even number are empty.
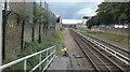
[[[24,26],[24,42],[30,42],[32,35],[32,24]],[[41,25],[41,37],[43,35],[43,24]],[[39,38],[39,24],[35,25],[35,41]],[[12,59],[21,54],[22,49],[22,23],[17,24],[16,15],[8,16],[5,26],[5,59]],[[13,58],[15,59],[15,58]]]

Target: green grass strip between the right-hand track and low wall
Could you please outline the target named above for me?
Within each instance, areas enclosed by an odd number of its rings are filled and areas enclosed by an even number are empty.
[[[125,35],[105,33],[105,32],[101,32],[101,31],[89,31],[89,30],[80,30],[80,31],[88,33],[90,35],[103,39],[107,42],[115,43],[115,44],[120,45],[122,47],[128,46],[128,37],[125,37]]]

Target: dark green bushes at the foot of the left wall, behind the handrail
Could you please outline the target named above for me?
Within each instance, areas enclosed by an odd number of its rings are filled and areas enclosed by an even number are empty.
[[[51,47],[54,44],[50,43],[49,37],[42,37],[41,43],[38,43],[37,41],[36,42],[25,42],[24,49],[22,51],[21,55],[17,58],[22,58],[27,55],[31,55],[34,53],[40,52],[40,51]],[[46,53],[42,53],[42,56],[46,56]],[[5,60],[4,63],[8,63],[12,60],[14,60],[14,59]],[[30,70],[31,68],[34,68],[36,64],[38,64],[38,62],[39,62],[39,55],[27,59],[27,70]],[[23,63],[24,63],[24,61],[11,67],[10,69],[11,70],[23,70]]]

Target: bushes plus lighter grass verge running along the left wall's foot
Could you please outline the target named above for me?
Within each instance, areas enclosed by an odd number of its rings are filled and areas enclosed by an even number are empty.
[[[24,49],[22,51],[21,55],[17,58],[22,58],[25,57],[27,55],[37,53],[39,51],[42,51],[44,48],[51,47],[53,45],[56,45],[56,55],[62,54],[61,53],[61,48],[63,46],[63,39],[64,39],[65,32],[64,29],[57,31],[56,33],[50,34],[50,35],[46,35],[41,39],[41,43],[36,42],[25,42],[25,46]],[[51,38],[50,38],[51,37]],[[46,53],[42,54],[42,58],[46,57]],[[30,70],[32,67],[35,67],[36,64],[38,64],[39,62],[39,55],[32,58],[27,59],[27,70]],[[6,60],[5,62],[9,62],[11,60]],[[16,66],[11,67],[10,69],[13,70],[23,70],[23,63],[24,62],[20,62]],[[44,63],[42,64],[43,68]]]

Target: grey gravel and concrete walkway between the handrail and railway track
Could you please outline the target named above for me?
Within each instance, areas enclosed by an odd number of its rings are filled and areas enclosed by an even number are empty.
[[[88,62],[84,54],[70,35],[68,29],[65,29],[66,35],[63,43],[68,48],[68,57],[58,55],[55,57],[48,70],[93,70],[92,66]],[[62,51],[61,51],[62,52]]]

